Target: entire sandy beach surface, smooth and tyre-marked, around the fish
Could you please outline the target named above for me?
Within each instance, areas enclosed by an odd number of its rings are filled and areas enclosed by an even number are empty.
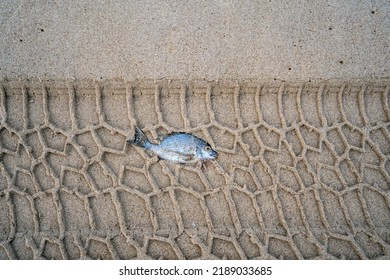
[[[116,3],[0,1],[0,259],[390,258],[388,2]]]

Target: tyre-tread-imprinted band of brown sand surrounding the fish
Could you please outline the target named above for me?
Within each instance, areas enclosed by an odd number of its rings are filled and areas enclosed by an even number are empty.
[[[0,259],[378,259],[387,80],[4,80]],[[205,171],[126,144],[204,138]]]

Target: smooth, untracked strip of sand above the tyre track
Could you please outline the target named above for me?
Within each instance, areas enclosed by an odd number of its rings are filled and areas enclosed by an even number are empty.
[[[390,76],[387,0],[30,2],[0,1],[1,77]]]

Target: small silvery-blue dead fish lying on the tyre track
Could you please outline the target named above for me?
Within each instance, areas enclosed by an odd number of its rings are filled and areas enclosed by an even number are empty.
[[[178,163],[202,164],[218,156],[206,141],[185,132],[173,132],[165,136],[159,144],[153,144],[142,130],[136,127],[134,139],[128,140],[127,143],[152,151],[160,159]]]

